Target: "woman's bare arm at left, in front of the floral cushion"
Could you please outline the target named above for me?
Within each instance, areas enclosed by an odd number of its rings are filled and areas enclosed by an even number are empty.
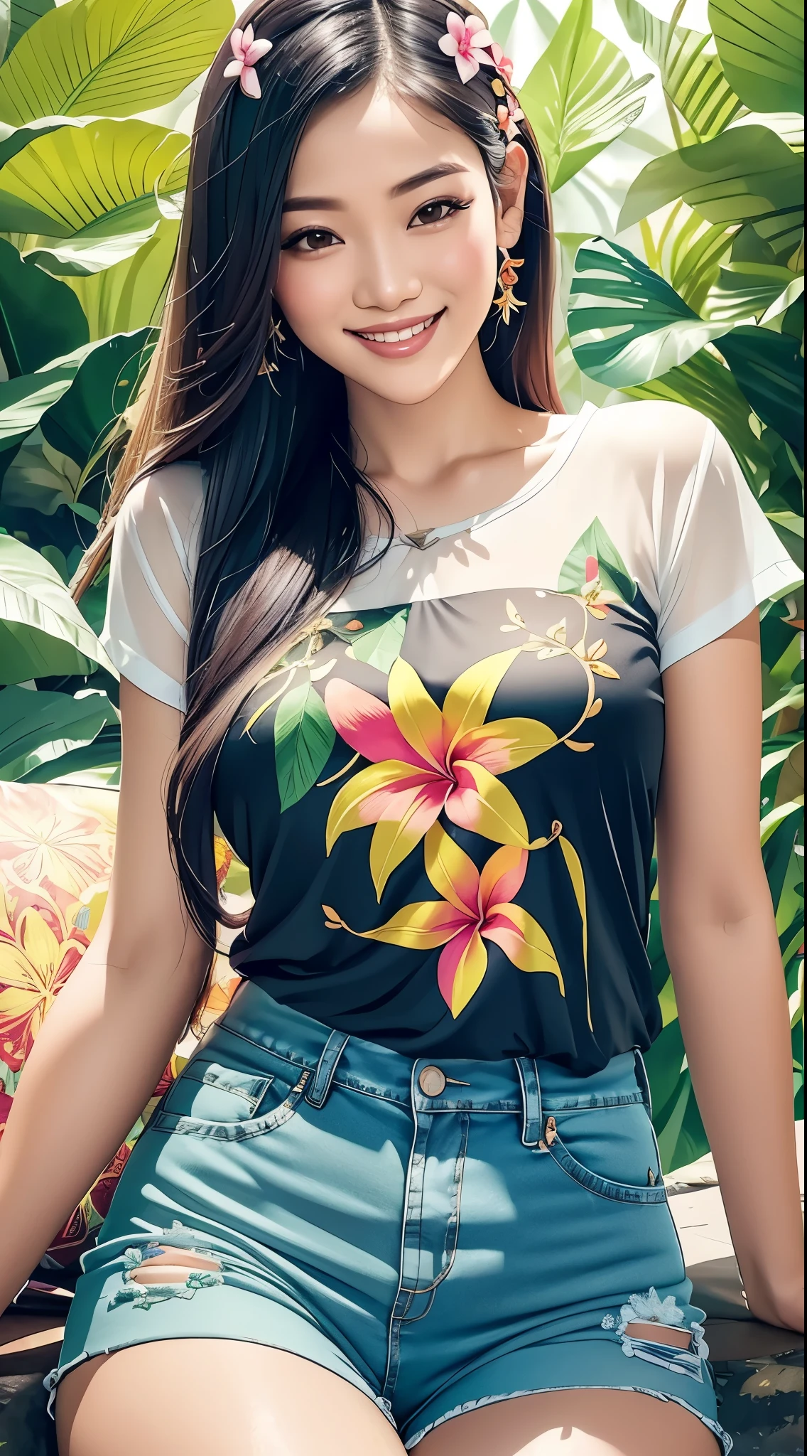
[[[180,715],[125,680],[121,712],[109,898],[39,1031],[0,1142],[0,1310],[145,1107],[211,960],[167,843],[163,794]]]

